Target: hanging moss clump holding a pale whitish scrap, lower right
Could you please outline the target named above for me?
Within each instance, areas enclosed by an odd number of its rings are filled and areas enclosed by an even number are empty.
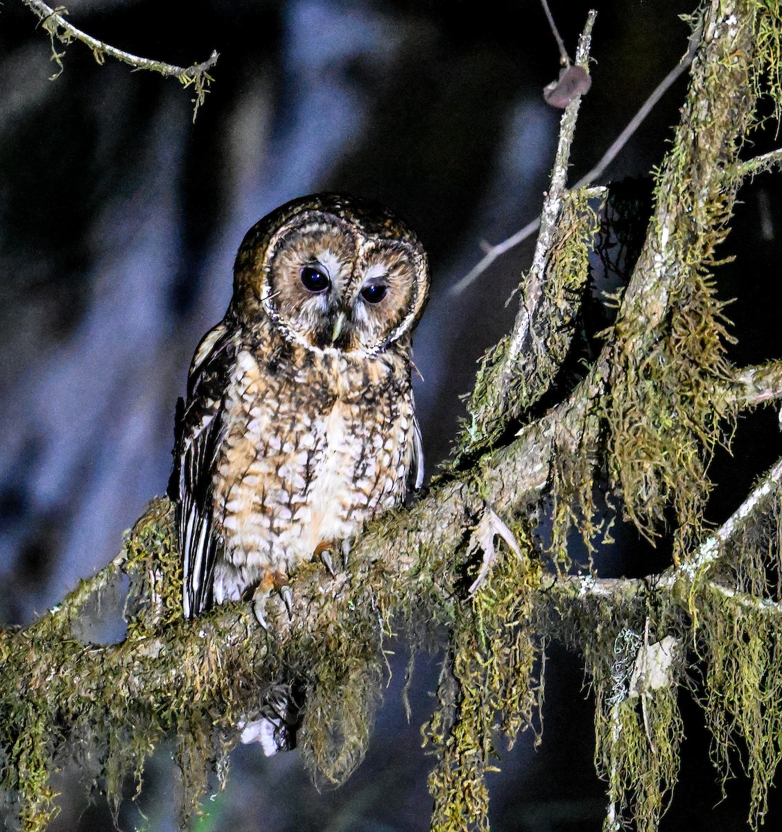
[[[545,612],[542,611],[542,612]],[[679,771],[678,680],[691,631],[668,592],[595,596],[573,587],[538,626],[582,653],[595,696],[595,765],[605,832],[654,832]]]

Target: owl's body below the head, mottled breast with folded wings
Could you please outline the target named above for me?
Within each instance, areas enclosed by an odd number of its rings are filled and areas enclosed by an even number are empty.
[[[373,358],[252,337],[227,321],[196,351],[175,448],[185,612],[286,573],[420,486],[408,349]],[[175,482],[176,481],[176,482]]]

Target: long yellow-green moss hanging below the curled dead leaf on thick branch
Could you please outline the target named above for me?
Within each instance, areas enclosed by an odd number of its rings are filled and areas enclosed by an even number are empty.
[[[517,537],[518,539],[518,537]],[[528,535],[523,547],[531,553]],[[433,832],[488,830],[484,775],[497,770],[498,735],[537,737],[542,678],[530,624],[537,564],[502,557],[487,582],[457,609],[438,685],[438,710],[424,726],[438,763],[429,776]]]

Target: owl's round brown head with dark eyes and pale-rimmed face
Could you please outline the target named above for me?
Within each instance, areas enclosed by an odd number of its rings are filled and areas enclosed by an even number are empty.
[[[255,223],[236,255],[234,303],[308,349],[378,354],[409,333],[429,286],[426,253],[388,210],[303,196]]]

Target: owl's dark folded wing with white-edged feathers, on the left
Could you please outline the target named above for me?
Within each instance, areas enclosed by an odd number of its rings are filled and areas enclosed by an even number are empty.
[[[212,603],[215,561],[221,548],[214,523],[212,478],[225,440],[227,379],[234,365],[227,328],[201,342],[188,378],[186,407],[177,418],[171,498],[182,557],[182,604],[190,618]]]

